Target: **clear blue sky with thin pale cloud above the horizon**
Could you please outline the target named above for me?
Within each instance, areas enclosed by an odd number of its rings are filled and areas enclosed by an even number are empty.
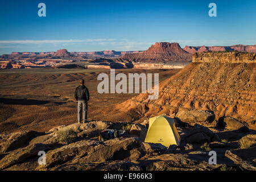
[[[46,4],[46,17],[38,4]],[[209,3],[217,5],[210,17]],[[0,0],[0,55],[145,50],[155,42],[188,46],[256,44],[256,1]]]

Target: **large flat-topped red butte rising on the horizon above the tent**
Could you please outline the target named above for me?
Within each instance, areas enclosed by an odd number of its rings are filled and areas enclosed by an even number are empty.
[[[155,43],[147,51],[126,54],[123,60],[132,62],[164,62],[169,61],[191,61],[191,54],[180,48],[179,43],[160,42]]]

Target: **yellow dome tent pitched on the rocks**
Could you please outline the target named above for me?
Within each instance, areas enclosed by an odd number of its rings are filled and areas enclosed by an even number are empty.
[[[169,147],[170,144],[180,144],[180,136],[174,124],[174,119],[164,115],[149,119],[145,142],[160,143]]]

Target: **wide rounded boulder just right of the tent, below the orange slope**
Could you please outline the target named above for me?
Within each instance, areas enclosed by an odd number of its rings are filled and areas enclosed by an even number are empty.
[[[197,122],[208,122],[214,121],[215,115],[206,110],[181,110],[175,115],[182,122],[197,123]]]

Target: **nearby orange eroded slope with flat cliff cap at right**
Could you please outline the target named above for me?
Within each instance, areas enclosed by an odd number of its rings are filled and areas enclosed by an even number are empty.
[[[193,53],[192,63],[159,83],[158,100],[139,94],[115,107],[139,119],[181,110],[213,111],[255,128],[255,53]],[[113,113],[115,113],[115,111]]]

